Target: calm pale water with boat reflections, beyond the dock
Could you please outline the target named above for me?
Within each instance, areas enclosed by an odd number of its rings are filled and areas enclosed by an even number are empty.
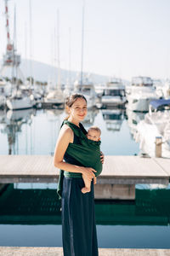
[[[59,135],[60,125],[65,119],[63,109],[26,109],[20,111],[0,112],[0,154],[54,154],[55,143]],[[122,123],[126,129],[121,131]],[[119,133],[119,137],[129,137],[127,120],[124,109],[89,109],[83,125],[88,129],[91,125],[97,125],[102,131],[102,150],[107,154],[117,154],[113,148],[108,147],[107,137],[115,141],[112,131]],[[111,133],[111,134],[110,134]],[[111,137],[112,136],[112,137]],[[135,150],[132,138],[128,139],[130,152]],[[120,141],[119,141],[120,143]],[[124,145],[119,144],[118,154]],[[115,147],[114,150],[116,150]],[[124,151],[123,151],[124,152]],[[133,153],[133,154],[134,154]],[[124,154],[124,153],[123,153]]]

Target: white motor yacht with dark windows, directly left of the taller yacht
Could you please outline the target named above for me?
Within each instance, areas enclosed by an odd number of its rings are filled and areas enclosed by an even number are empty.
[[[125,102],[125,85],[121,79],[112,79],[105,85],[101,98],[102,108],[123,106]]]

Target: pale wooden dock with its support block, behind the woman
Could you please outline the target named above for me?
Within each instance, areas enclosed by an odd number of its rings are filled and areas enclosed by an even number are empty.
[[[50,155],[0,155],[0,183],[57,183]],[[170,159],[107,155],[95,185],[98,199],[134,199],[137,183],[169,183]]]

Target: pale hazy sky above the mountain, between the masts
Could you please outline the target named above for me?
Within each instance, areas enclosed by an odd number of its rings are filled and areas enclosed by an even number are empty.
[[[8,1],[11,34],[14,3],[17,49],[22,58],[29,58],[29,0]],[[32,59],[54,63],[52,45],[59,9],[61,67],[69,68],[71,27],[71,69],[80,70],[82,3],[82,0],[31,0]],[[4,1],[0,0],[0,58],[6,44],[3,13]],[[123,79],[137,75],[170,78],[169,0],[86,0],[84,22],[84,71]]]

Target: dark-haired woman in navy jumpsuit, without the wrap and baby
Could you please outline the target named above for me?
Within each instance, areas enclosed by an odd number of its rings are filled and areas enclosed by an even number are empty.
[[[75,94],[66,101],[67,118],[83,133],[87,131],[80,123],[87,114],[87,100]],[[62,125],[54,152],[54,166],[75,177],[64,177],[62,188],[62,239],[64,256],[98,256],[98,244],[94,219],[94,172],[91,167],[80,166],[67,154],[69,143],[80,144],[79,137],[68,125]],[[65,160],[65,161],[64,161]],[[103,155],[101,157],[103,162]],[[82,173],[91,181],[91,191],[82,194]]]

